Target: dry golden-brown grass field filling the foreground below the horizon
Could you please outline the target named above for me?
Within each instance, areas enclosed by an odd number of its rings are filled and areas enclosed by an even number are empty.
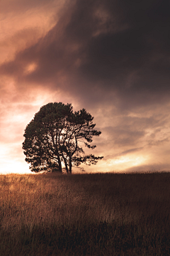
[[[170,255],[170,174],[0,176],[0,255]]]

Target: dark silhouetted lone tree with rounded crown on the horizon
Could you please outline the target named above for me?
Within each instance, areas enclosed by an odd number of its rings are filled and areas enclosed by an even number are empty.
[[[96,164],[103,156],[85,155],[82,148],[94,149],[92,137],[101,134],[94,129],[93,119],[84,109],[73,112],[72,104],[55,102],[41,107],[23,135],[30,170],[62,172],[64,164],[67,174],[72,174],[72,166]]]

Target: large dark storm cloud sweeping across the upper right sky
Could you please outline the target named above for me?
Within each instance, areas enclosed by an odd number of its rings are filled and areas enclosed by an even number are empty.
[[[89,103],[162,103],[170,88],[169,8],[165,0],[67,3],[56,26],[1,72],[76,92]],[[37,64],[32,73],[29,63]]]

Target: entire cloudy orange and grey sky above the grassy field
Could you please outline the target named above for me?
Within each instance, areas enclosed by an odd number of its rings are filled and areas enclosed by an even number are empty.
[[[26,125],[49,102],[94,117],[86,172],[170,170],[170,1],[1,0],[0,173],[30,173]]]

